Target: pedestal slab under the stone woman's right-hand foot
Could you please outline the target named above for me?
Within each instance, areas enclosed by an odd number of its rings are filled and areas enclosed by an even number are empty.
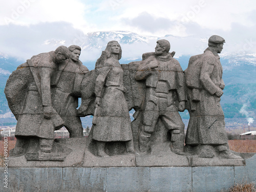
[[[111,167],[106,170],[106,185],[112,192],[147,192],[150,189],[150,169],[147,167]]]

